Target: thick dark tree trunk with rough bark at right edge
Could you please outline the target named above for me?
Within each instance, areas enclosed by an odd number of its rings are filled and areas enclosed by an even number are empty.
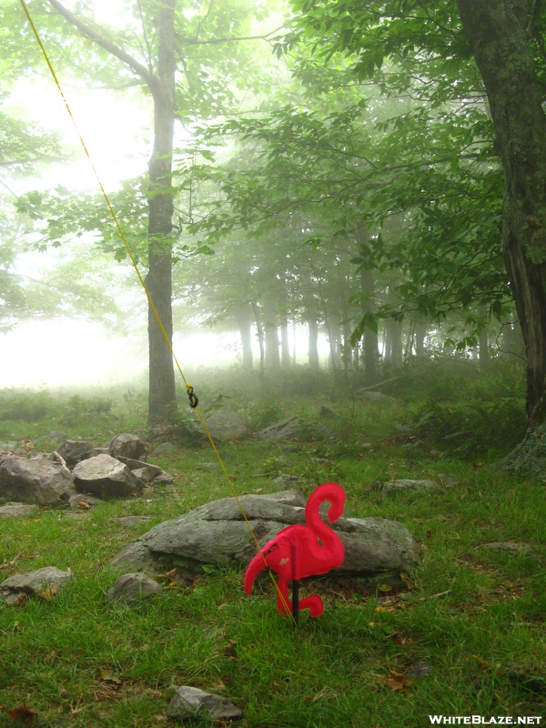
[[[534,4],[458,0],[458,5],[487,91],[504,170],[502,247],[527,351],[530,430],[508,464],[533,470],[546,407],[546,116],[526,30]]]

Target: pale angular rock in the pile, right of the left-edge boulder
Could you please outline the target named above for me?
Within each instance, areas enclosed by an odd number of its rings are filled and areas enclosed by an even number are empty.
[[[124,465],[109,455],[78,462],[73,470],[78,490],[103,497],[123,497],[142,490],[144,483]]]

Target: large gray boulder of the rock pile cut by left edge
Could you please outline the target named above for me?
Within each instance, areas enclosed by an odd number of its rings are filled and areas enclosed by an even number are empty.
[[[0,498],[9,501],[59,506],[68,501],[72,481],[72,473],[60,462],[0,458]]]

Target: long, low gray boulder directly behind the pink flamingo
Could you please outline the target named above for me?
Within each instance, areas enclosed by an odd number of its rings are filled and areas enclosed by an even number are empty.
[[[305,523],[306,501],[296,490],[243,495],[239,501],[260,546],[285,526]],[[420,561],[419,544],[397,521],[340,518],[333,528],[345,546],[345,561],[337,574],[410,571]],[[237,501],[223,498],[159,523],[120,551],[111,566],[155,573],[161,569],[158,560],[167,556],[177,566],[199,571],[205,564],[247,566],[255,553]]]

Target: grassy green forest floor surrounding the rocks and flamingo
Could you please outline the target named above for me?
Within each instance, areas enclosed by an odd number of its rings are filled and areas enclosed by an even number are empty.
[[[174,490],[147,488],[78,520],[44,509],[32,519],[0,521],[0,581],[50,565],[76,575],[49,601],[0,605],[0,725],[158,726],[167,724],[180,685],[243,708],[241,728],[418,728],[432,724],[430,716],[506,724],[546,713],[543,483],[492,469],[492,450],[473,459],[471,449],[454,455],[438,443],[416,447],[395,428],[412,416],[400,398],[366,403],[342,387],[260,394],[256,386],[226,385],[221,396],[219,384],[209,389],[198,392],[202,402],[246,412],[255,429],[293,414],[316,418],[320,404],[337,410],[342,417],[328,421],[336,433],[329,444],[309,442],[298,452],[255,439],[223,445],[238,494],[276,490],[279,472],[303,478],[306,495],[334,480],[347,492],[346,515],[406,524],[422,544],[422,564],[406,582],[386,575],[374,589],[365,580],[316,580],[325,612],[319,619],[302,612],[298,628],[278,614],[267,588],[251,597],[243,591],[243,571],[211,569],[149,602],[107,604],[114,581],[108,561],[127,542],[230,495],[221,471],[209,466],[210,448],[177,447],[150,459],[176,477]],[[30,413],[26,421],[9,412],[2,419],[9,397],[0,398],[0,440],[61,427],[72,439],[103,445],[145,427],[142,401],[131,390],[114,410],[101,406],[104,397],[74,395],[61,410],[44,393],[13,396],[20,397],[18,411],[26,402]],[[40,398],[44,408],[33,421],[30,400],[36,406]],[[371,449],[363,447],[368,442]],[[313,460],[321,458],[329,461]],[[457,487],[395,498],[374,490],[378,482],[438,480],[440,473]],[[153,520],[129,530],[116,519],[125,515]],[[481,548],[490,542],[514,546]],[[9,711],[23,705],[26,723],[12,720]]]

